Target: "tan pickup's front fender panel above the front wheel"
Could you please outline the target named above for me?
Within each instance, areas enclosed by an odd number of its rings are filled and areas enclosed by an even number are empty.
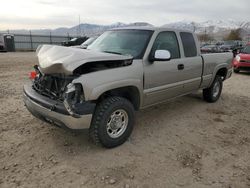
[[[142,99],[142,60],[134,60],[130,66],[83,74],[73,80],[73,83],[82,84],[85,100],[97,100],[106,91],[127,86],[136,87]]]

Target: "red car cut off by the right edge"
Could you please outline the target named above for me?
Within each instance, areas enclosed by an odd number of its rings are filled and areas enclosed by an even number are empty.
[[[234,72],[250,71],[250,43],[233,60]]]

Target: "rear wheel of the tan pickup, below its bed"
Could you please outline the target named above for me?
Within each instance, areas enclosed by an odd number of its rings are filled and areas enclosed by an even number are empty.
[[[209,103],[216,102],[220,98],[222,87],[222,78],[217,75],[212,85],[209,88],[203,90],[204,100]]]

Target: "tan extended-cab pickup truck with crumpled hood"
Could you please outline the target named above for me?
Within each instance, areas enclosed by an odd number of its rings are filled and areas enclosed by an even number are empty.
[[[130,136],[135,111],[202,89],[216,102],[232,74],[232,53],[201,55],[195,34],[132,27],[103,33],[87,49],[43,45],[24,86],[36,117],[70,129],[89,129],[107,148]]]

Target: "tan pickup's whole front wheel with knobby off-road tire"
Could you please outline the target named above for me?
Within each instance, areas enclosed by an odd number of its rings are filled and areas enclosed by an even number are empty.
[[[96,107],[89,129],[90,138],[106,148],[119,146],[130,136],[134,117],[134,107],[127,99],[106,98]]]

